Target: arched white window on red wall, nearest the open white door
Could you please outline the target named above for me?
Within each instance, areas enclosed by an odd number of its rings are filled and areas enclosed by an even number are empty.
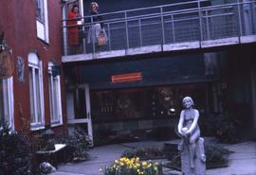
[[[52,126],[63,124],[61,80],[60,75],[55,74],[57,67],[53,62],[48,63],[50,121]]]

